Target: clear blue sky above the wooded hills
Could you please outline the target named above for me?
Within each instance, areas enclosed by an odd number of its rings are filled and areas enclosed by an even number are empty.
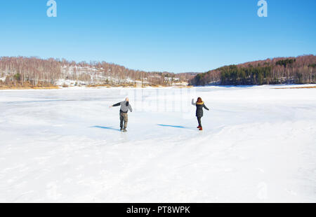
[[[316,1],[1,1],[0,56],[114,62],[145,71],[208,71],[268,57],[314,54]]]

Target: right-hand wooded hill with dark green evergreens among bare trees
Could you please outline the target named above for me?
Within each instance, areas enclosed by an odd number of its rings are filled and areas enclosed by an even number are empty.
[[[315,55],[278,57],[199,73],[189,83],[196,86],[316,83],[315,64]]]

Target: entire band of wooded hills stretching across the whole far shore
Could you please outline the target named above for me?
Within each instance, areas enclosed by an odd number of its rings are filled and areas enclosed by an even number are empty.
[[[57,85],[265,85],[316,83],[316,56],[278,57],[223,66],[206,73],[147,72],[107,62],[0,57],[0,87]]]

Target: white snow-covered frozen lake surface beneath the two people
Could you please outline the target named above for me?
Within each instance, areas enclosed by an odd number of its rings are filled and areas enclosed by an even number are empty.
[[[0,202],[316,202],[316,89],[275,87],[1,90]]]

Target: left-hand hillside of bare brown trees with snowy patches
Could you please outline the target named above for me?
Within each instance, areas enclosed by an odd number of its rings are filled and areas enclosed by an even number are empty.
[[[174,85],[196,73],[147,72],[107,62],[69,62],[66,59],[0,57],[0,87],[56,85]]]

